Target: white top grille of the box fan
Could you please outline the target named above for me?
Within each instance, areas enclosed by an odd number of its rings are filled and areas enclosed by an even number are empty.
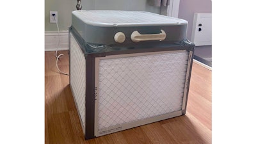
[[[79,10],[72,12],[84,23],[92,26],[172,26],[188,21],[156,13],[117,10]]]

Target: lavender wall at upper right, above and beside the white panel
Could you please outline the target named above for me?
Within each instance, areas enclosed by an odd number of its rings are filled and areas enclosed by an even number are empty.
[[[188,21],[187,38],[191,40],[194,13],[212,13],[211,0],[180,0],[179,15],[180,19]]]

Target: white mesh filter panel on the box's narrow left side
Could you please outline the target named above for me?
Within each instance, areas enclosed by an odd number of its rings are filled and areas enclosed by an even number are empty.
[[[86,60],[83,51],[70,33],[70,87],[76,99],[77,110],[85,127]]]

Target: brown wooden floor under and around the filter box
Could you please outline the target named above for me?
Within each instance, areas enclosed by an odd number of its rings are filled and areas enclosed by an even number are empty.
[[[68,53],[59,67],[68,73]],[[187,113],[92,140],[84,140],[68,76],[56,68],[55,52],[45,52],[45,144],[79,143],[211,143],[212,72],[193,63]]]

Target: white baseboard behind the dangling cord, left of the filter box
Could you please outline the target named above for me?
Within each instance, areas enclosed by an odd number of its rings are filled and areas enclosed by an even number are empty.
[[[58,47],[58,31],[45,31],[45,51],[68,50],[68,31],[60,31]]]

